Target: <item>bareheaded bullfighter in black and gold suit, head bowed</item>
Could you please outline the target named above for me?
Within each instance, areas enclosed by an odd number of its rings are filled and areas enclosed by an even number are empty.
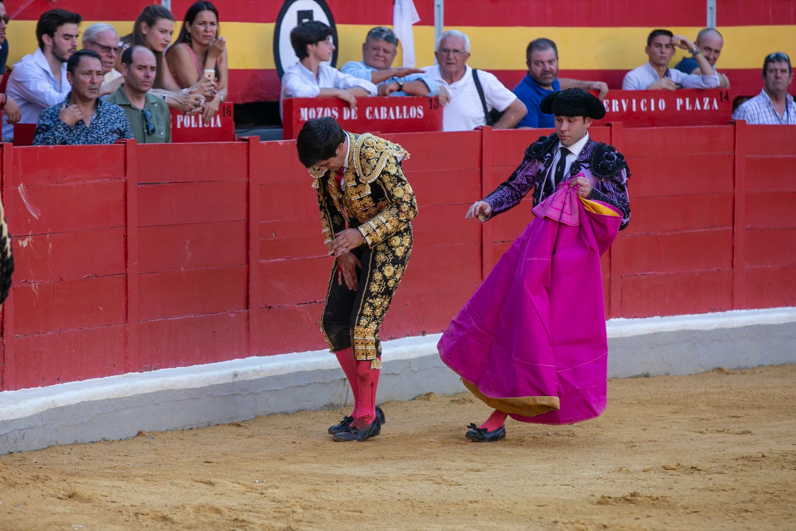
[[[379,327],[412,254],[417,202],[401,169],[409,154],[369,133],[343,131],[332,118],[308,120],[296,149],[314,178],[323,236],[334,256],[321,327],[354,399],[353,413],[329,433],[335,441],[361,442],[384,424],[376,407]]]

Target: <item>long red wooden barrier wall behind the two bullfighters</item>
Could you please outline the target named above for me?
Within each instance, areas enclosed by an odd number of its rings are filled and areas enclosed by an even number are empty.
[[[463,220],[546,131],[388,135],[420,210],[383,337],[443,330],[530,220]],[[595,127],[628,158],[608,317],[796,303],[796,127]],[[322,349],[330,258],[292,141],[0,149],[0,389]]]

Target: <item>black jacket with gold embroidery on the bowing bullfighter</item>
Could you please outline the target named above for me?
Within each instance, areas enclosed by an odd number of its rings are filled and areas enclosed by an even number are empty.
[[[330,170],[310,169],[318,192],[324,243],[345,229],[358,228],[370,248],[408,225],[417,215],[412,186],[400,161],[409,158],[396,143],[365,133],[346,133],[349,139],[348,168],[341,192]],[[330,253],[331,254],[331,253]]]

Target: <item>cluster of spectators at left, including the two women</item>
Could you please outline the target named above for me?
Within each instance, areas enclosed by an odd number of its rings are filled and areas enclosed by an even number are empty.
[[[201,115],[209,123],[228,92],[228,59],[212,2],[189,6],[174,45],[174,15],[146,6],[133,31],[119,37],[98,22],[82,32],[80,14],[53,9],[36,25],[38,49],[22,57],[0,94],[3,142],[14,125],[35,124],[33,143],[107,144],[171,140],[170,111]],[[0,0],[0,68],[8,57],[9,18]]]

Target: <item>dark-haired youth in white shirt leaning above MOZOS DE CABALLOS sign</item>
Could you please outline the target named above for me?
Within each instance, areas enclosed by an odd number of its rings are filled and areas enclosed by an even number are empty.
[[[336,97],[357,104],[357,96],[376,96],[376,85],[324,64],[334,52],[332,29],[319,21],[306,21],[291,29],[291,45],[298,63],[285,68],[279,113],[285,98]]]

